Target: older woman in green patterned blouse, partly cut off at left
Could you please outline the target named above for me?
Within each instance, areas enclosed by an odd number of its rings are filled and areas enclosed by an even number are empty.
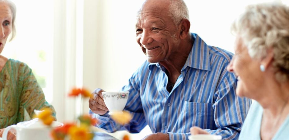
[[[0,54],[15,35],[16,6],[0,0]],[[32,70],[23,62],[0,55],[0,137],[4,128],[33,117],[33,110],[54,108],[47,103]],[[55,117],[55,111],[54,111]],[[10,133],[11,134],[11,133]],[[15,135],[8,136],[13,139]]]

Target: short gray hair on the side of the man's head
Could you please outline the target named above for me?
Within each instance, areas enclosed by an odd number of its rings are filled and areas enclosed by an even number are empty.
[[[189,20],[189,10],[183,0],[170,0],[169,16],[177,25],[182,19]]]

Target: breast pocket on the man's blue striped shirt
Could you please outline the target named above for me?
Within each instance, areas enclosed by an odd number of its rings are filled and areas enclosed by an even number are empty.
[[[213,103],[196,103],[185,101],[185,117],[187,123],[203,129],[214,129]]]

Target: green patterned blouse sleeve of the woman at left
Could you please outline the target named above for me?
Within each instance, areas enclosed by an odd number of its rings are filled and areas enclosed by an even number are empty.
[[[37,83],[32,70],[23,63],[19,65],[19,70],[23,72],[23,76],[19,76],[19,83],[23,87],[21,90],[20,109],[26,110],[30,117],[33,118],[34,109],[41,110],[48,107],[53,111],[52,115],[56,120],[54,107],[45,100],[44,93]]]

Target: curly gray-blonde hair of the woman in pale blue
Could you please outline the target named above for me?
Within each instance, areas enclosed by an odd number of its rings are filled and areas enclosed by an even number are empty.
[[[240,35],[252,58],[261,60],[272,48],[276,79],[289,80],[288,6],[280,2],[249,5],[232,24],[231,31]]]

